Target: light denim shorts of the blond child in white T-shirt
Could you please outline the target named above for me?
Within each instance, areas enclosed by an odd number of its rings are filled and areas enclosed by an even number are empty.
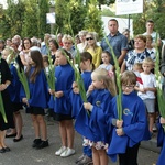
[[[143,100],[147,113],[154,113],[155,112],[155,99],[145,99]]]

